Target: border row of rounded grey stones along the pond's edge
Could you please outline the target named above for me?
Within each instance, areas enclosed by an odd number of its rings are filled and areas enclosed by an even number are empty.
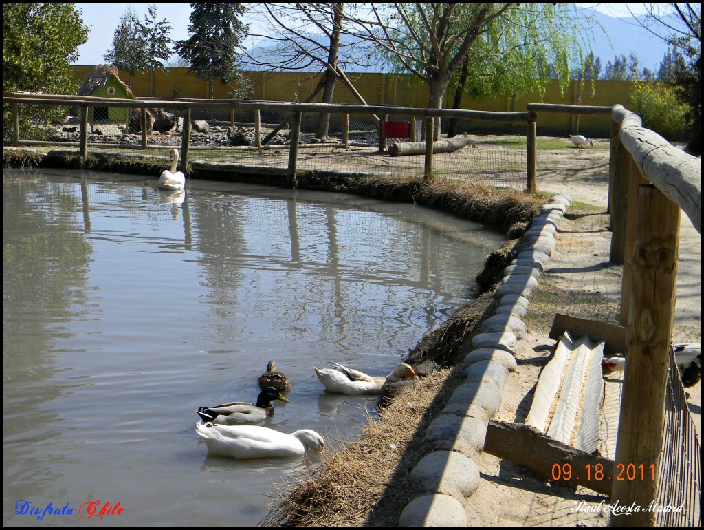
[[[462,346],[468,350],[461,364],[466,380],[425,431],[435,450],[410,472],[420,480],[420,495],[403,508],[398,526],[467,526],[465,501],[479,486],[473,459],[484,450],[507,373],[517,368],[514,346],[527,333],[521,317],[555,250],[557,223],[570,204],[570,197],[559,195],[541,208],[523,235],[524,249],[504,269],[495,292],[500,297],[496,314],[482,322],[471,345]]]

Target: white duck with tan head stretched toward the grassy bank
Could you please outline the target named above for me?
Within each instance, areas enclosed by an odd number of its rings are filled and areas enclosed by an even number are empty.
[[[313,366],[313,370],[327,390],[339,394],[381,394],[386,383],[396,383],[408,377],[417,378],[410,364],[405,363],[396,365],[394,371],[386,377],[367,376],[363,372],[347,368],[337,362],[330,364],[334,368]]]

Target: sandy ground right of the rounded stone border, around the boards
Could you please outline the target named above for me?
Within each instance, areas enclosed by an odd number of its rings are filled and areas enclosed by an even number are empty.
[[[541,191],[570,195],[575,204],[558,226],[557,248],[541,275],[529,313],[524,318],[529,335],[517,345],[518,369],[510,374],[502,393],[501,410],[496,419],[522,423],[532,402],[532,391],[539,372],[551,357],[555,340],[547,334],[554,312],[584,315],[582,295],[598,295],[593,319],[617,314],[622,267],[608,263],[610,249],[608,200],[608,150],[575,149],[569,161],[564,152],[539,152],[538,185]],[[689,218],[682,215],[679,270],[677,281],[677,315],[674,342],[700,342],[701,287],[700,235]],[[578,303],[579,300],[579,303]],[[596,300],[596,298],[595,298]],[[600,318],[601,316],[601,318]],[[701,383],[688,388],[688,405],[700,436]],[[603,412],[604,451],[613,457],[617,435],[617,412],[621,381],[608,383]],[[484,453],[479,464],[481,483],[467,502],[470,526],[607,526],[608,512],[577,511],[584,500],[598,507],[605,500],[585,488],[565,488],[547,483],[529,469],[499,460]],[[608,500],[606,506],[608,507]]]

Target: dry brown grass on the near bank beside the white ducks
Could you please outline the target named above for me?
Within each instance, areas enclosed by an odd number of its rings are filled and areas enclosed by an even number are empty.
[[[323,455],[322,466],[293,485],[276,484],[272,504],[279,504],[260,525],[396,526],[417,494],[408,472],[430,450],[422,432],[461,380],[443,369],[399,389],[378,420],[368,418],[360,440]]]

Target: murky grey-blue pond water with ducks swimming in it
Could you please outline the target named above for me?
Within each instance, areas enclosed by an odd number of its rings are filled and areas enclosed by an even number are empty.
[[[3,198],[11,525],[94,508],[109,514],[89,524],[257,524],[272,484],[318,457],[209,457],[195,409],[255,401],[275,359],[293,388],[264,425],[334,450],[377,400],[325,393],[312,366],[388,374],[503,240],[413,204],[203,180],[173,196],[146,176],[5,169]]]

